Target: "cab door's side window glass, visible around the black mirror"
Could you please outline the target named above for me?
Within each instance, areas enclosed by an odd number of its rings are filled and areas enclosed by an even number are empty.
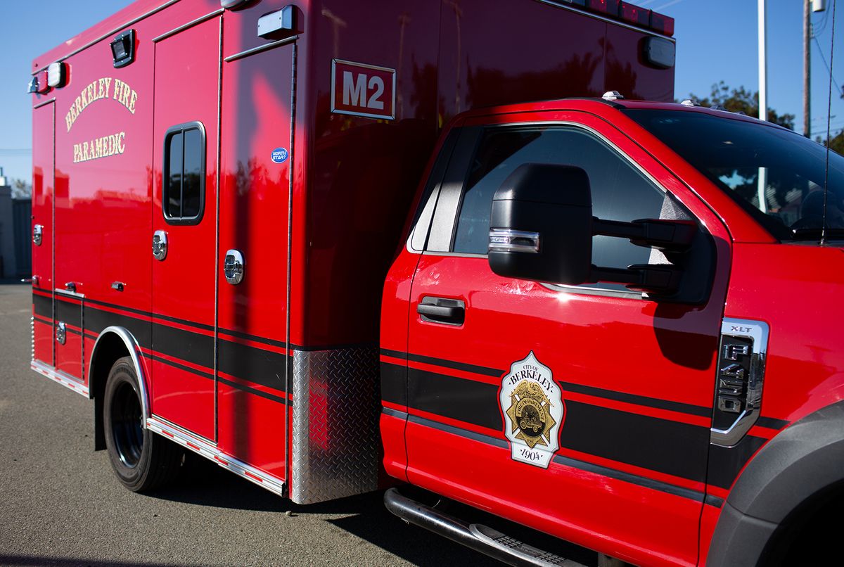
[[[592,214],[599,219],[658,219],[663,210],[664,193],[590,132],[573,127],[490,128],[473,159],[453,251],[486,254],[495,190],[519,165],[528,163],[575,165],[586,170],[592,187]],[[649,248],[629,240],[592,239],[592,263],[598,266],[647,264],[650,256]],[[598,287],[625,289],[615,284]]]

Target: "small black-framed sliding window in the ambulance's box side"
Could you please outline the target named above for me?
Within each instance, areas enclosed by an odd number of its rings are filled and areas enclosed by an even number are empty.
[[[205,192],[205,132],[198,122],[170,128],[165,134],[165,219],[170,224],[197,224]]]

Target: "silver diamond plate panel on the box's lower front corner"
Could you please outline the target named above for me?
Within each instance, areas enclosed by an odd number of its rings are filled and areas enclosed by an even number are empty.
[[[378,349],[293,354],[290,499],[312,504],[378,488]]]

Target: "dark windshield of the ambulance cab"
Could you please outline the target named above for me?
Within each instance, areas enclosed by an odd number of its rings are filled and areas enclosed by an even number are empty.
[[[760,122],[700,111],[625,113],[700,170],[776,238],[814,240],[824,221],[833,236],[844,235],[844,156],[827,154],[820,143],[797,132]]]

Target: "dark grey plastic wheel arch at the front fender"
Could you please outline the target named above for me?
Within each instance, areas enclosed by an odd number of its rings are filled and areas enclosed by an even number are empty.
[[[733,485],[707,563],[757,564],[795,518],[844,485],[844,401],[810,413],[762,447]]]

